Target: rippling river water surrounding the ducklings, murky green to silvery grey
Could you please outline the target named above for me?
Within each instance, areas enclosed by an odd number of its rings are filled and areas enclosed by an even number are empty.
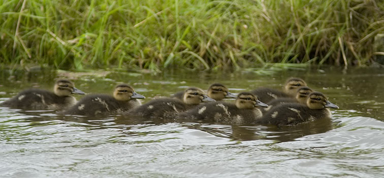
[[[51,71],[0,75],[0,102],[24,88],[50,89],[56,77]],[[71,76],[88,93],[112,93],[117,82],[130,83],[147,97],[143,102],[186,86],[206,89],[221,82],[239,93],[279,88],[287,77],[299,76],[340,109],[332,110],[330,120],[276,128],[119,116],[95,120],[0,107],[0,177],[384,176],[383,70]]]

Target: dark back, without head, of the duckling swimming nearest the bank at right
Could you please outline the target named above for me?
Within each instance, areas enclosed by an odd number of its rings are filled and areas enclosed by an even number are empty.
[[[258,99],[263,103],[268,103],[271,100],[277,99],[277,98],[290,98],[291,96],[288,94],[285,94],[284,92],[272,89],[272,88],[266,88],[266,87],[260,87],[257,88],[251,93],[258,97]]]

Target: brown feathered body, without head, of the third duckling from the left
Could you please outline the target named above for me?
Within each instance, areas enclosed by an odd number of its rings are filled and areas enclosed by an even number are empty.
[[[186,105],[178,99],[161,98],[134,108],[126,114],[144,118],[172,118],[177,113],[186,111],[194,106],[195,105]]]

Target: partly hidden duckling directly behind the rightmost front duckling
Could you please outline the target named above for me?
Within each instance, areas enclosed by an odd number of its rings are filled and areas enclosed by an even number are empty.
[[[305,104],[307,102],[307,97],[312,92],[313,92],[312,89],[309,88],[308,86],[299,87],[299,89],[296,92],[295,98],[277,98],[277,99],[271,100],[270,102],[267,103],[268,107],[264,108],[262,112],[265,113],[268,110],[270,110],[272,107],[276,107],[277,105],[280,105],[282,103]]]

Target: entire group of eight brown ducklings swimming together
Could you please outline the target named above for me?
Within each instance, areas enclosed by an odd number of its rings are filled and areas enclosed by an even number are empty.
[[[295,125],[321,118],[330,118],[327,108],[338,108],[319,92],[314,92],[300,78],[286,81],[283,91],[261,87],[237,96],[220,83],[208,88],[207,95],[197,87],[188,87],[168,98],[141,104],[145,97],[127,84],[118,84],[113,96],[91,94],[80,101],[71,94],[85,94],[67,79],[58,79],[54,92],[29,89],[0,103],[0,106],[23,109],[59,110],[68,115],[127,115],[143,118],[164,118],[185,121],[208,121],[225,124]],[[235,102],[222,102],[236,98]]]

